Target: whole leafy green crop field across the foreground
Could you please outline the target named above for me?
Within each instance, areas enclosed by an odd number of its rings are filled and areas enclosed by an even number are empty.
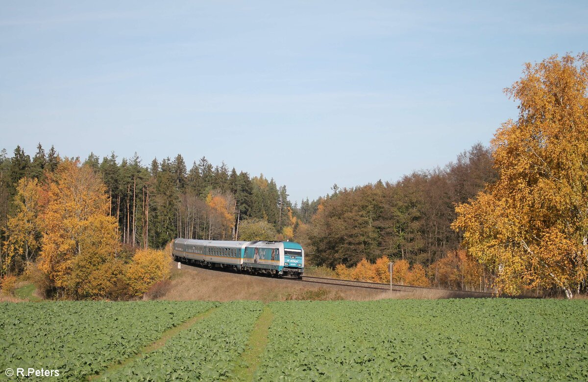
[[[0,309],[0,370],[58,369],[60,380],[588,378],[583,300],[44,302]]]

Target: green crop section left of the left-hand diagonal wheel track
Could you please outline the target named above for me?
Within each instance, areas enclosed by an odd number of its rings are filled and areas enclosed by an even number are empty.
[[[79,381],[136,354],[213,302],[0,304],[0,370],[54,369]]]

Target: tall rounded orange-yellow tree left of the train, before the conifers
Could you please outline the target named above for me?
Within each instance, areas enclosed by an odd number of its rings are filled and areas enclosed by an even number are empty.
[[[58,295],[101,296],[102,279],[112,276],[105,271],[120,268],[114,264],[118,226],[108,214],[101,178],[66,158],[48,179],[46,195],[39,269],[49,275]]]

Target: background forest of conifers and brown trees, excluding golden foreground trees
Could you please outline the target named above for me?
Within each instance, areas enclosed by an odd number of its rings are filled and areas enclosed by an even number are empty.
[[[189,170],[181,154],[153,159],[149,166],[137,154],[118,160],[115,153],[102,159],[92,153],[77,163],[99,175],[118,241],[128,248],[163,248],[176,237],[290,239],[305,245],[310,263],[319,266],[349,267],[382,256],[427,266],[459,248],[459,235],[450,228],[453,204],[495,180],[490,154],[476,144],[444,168],[418,171],[395,183],[334,185],[331,194],[300,205],[288,200],[285,185],[263,174],[229,171],[225,163],[213,165],[205,157]],[[21,147],[11,157],[2,150],[2,275],[21,274],[42,249],[33,244],[41,242],[41,229],[25,234],[9,224],[24,209],[19,209],[19,181],[46,182],[60,163],[55,147],[45,152],[40,143],[32,158]]]

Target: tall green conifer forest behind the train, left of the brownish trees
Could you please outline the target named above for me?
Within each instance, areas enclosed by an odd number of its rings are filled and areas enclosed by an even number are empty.
[[[9,221],[22,214],[18,184],[23,179],[44,184],[62,163],[54,147],[41,144],[31,158],[21,147],[0,153],[0,276],[19,275],[34,262],[41,246],[14,244],[18,230]],[[130,248],[163,248],[175,237],[199,239],[292,239],[303,223],[288,200],[286,187],[262,175],[212,165],[202,157],[191,168],[182,155],[153,159],[147,167],[137,154],[120,161],[114,153],[100,159],[90,154],[81,167],[91,168],[105,186],[106,214],[116,222],[116,237]],[[305,218],[312,206],[306,201]],[[316,209],[316,203],[315,207]],[[21,217],[22,218],[22,217]],[[26,223],[23,223],[26,224]],[[243,225],[245,231],[239,233]],[[259,232],[260,227],[269,227]],[[33,235],[41,235],[35,232]],[[269,236],[268,236],[269,235]],[[260,237],[259,237],[260,236]]]

